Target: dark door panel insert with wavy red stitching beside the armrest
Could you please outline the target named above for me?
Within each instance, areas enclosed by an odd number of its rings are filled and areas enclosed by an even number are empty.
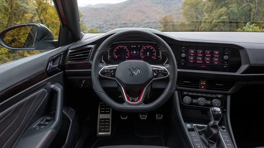
[[[0,147],[11,147],[14,144],[47,92],[41,89],[0,114]]]

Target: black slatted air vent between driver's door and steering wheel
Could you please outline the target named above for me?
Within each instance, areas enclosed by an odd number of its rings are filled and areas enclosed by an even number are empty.
[[[88,61],[93,46],[83,46],[69,51],[68,62]]]

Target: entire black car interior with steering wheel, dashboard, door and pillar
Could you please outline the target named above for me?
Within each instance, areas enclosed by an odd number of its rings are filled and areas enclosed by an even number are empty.
[[[264,147],[262,33],[82,33],[77,1],[54,5],[59,40],[0,33],[49,49],[0,65],[0,147]]]

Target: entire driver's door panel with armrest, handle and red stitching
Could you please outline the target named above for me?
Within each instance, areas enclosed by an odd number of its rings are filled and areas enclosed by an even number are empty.
[[[64,55],[70,46],[0,65],[0,148],[52,143],[62,120]],[[48,71],[54,57],[58,65]],[[46,117],[52,121],[36,130]]]

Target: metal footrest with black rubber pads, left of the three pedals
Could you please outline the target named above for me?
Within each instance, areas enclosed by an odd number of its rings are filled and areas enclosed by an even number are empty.
[[[97,121],[97,136],[111,136],[111,113],[112,108],[105,103],[99,104],[98,121]]]

